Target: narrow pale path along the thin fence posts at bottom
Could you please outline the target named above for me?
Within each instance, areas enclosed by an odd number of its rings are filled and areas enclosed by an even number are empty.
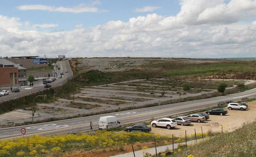
[[[197,139],[197,142],[199,143],[203,139]],[[179,143],[181,145],[185,145],[185,142]],[[195,144],[195,141],[187,141],[187,145],[192,145]],[[174,149],[178,148],[178,144],[174,144]],[[166,150],[172,150],[172,144],[167,145],[167,146],[159,146],[156,147],[157,153],[162,153],[165,152]],[[145,153],[150,153],[152,155],[155,155],[155,147],[154,148],[149,148],[149,149],[144,149],[144,150],[137,150],[134,152],[135,156],[133,155],[133,152],[130,153],[125,153],[125,154],[119,154],[119,155],[114,155],[111,157],[144,157]]]

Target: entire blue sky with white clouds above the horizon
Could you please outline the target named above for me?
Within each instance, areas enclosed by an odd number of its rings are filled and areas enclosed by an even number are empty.
[[[0,56],[256,57],[256,0],[5,0]]]

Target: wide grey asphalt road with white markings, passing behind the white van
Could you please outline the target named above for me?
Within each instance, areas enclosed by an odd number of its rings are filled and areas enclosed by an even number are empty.
[[[190,112],[193,110],[199,110],[203,108],[209,108],[216,106],[219,101],[227,100],[241,100],[242,97],[254,97],[256,96],[256,88],[241,93],[231,94],[228,96],[219,96],[209,99],[201,99],[196,101],[187,101],[182,103],[173,103],[169,105],[154,106],[150,108],[141,108],[122,112],[113,112],[109,114],[99,114],[89,117],[81,117],[75,119],[68,119],[62,121],[39,123],[35,125],[17,126],[0,129],[0,138],[8,139],[21,136],[21,128],[26,128],[26,136],[30,135],[55,135],[66,134],[70,132],[89,131],[89,121],[93,122],[93,129],[98,129],[99,117],[103,115],[115,115],[119,118],[122,124],[135,123],[140,121],[146,121],[151,118],[157,119],[160,117],[166,117],[175,114],[181,114],[184,112]],[[242,112],[242,111],[241,111]],[[225,116],[223,116],[225,117]]]

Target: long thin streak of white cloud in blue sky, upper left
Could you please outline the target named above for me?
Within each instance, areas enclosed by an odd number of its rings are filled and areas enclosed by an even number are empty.
[[[18,6],[18,10],[43,10],[43,11],[51,11],[51,12],[66,12],[66,13],[84,13],[84,12],[105,12],[107,10],[100,10],[95,5],[100,5],[101,2],[96,0],[91,4],[79,4],[74,7],[53,7],[47,5],[33,4],[33,5],[21,5]]]

